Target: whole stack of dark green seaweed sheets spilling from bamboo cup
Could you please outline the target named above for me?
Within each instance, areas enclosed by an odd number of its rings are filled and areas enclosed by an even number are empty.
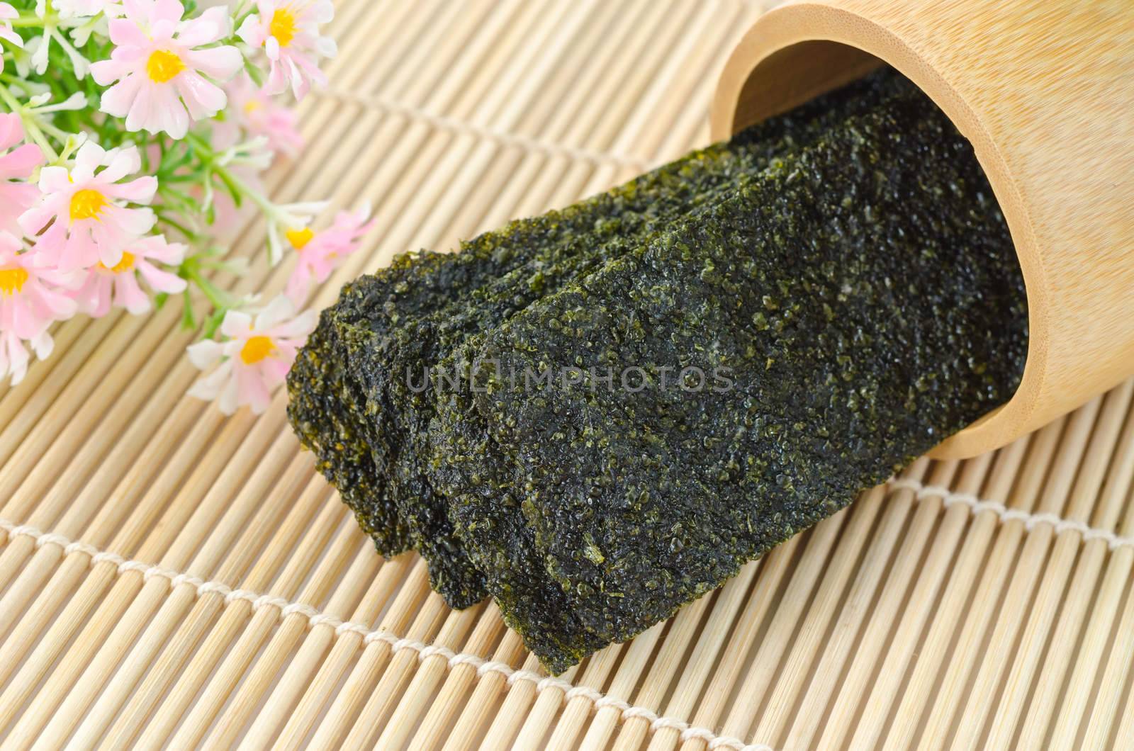
[[[559,673],[1005,402],[1023,281],[891,70],[342,288],[290,421],[378,549]]]

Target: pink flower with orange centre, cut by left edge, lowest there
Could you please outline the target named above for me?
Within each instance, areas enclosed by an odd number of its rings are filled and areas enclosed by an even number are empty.
[[[36,265],[33,255],[0,233],[0,378],[10,376],[12,386],[24,380],[31,360],[24,341],[44,360],[54,344],[48,327],[75,314],[75,301],[54,288],[58,275]]]

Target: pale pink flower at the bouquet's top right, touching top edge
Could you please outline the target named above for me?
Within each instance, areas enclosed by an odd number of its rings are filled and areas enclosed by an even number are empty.
[[[290,85],[296,99],[303,99],[311,82],[325,85],[318,58],[335,57],[337,50],[333,40],[319,35],[319,25],[335,17],[331,0],[256,0],[256,9],[237,35],[268,53],[266,92],[281,94]]]

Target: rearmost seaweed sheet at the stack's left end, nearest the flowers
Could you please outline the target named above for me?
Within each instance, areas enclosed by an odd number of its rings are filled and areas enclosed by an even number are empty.
[[[565,238],[582,238],[610,213],[610,202],[600,194],[481,235],[464,243],[457,254],[401,254],[390,267],[345,285],[339,301],[323,311],[289,373],[288,415],[301,441],[316,454],[320,471],[339,489],[381,552],[395,555],[409,543],[387,478],[390,439],[399,433],[381,390],[375,389],[367,404],[363,385],[348,368],[353,354],[381,363],[380,346],[392,327],[446,304],[467,304],[485,280]],[[482,597],[480,592],[475,599]],[[462,601],[449,599],[451,605]],[[464,605],[475,601],[462,599],[467,600]]]

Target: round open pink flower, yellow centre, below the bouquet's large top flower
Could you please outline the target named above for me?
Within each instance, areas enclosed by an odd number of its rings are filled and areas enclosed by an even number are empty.
[[[24,212],[19,226],[35,238],[37,262],[60,271],[87,269],[100,261],[115,267],[122,248],[153,228],[150,209],[127,208],[126,203],[150,203],[158,179],[120,179],[136,172],[142,158],[135,146],[104,151],[87,142],[75,155],[75,167],[44,167],[40,170],[39,202]],[[99,167],[104,167],[98,171]]]

